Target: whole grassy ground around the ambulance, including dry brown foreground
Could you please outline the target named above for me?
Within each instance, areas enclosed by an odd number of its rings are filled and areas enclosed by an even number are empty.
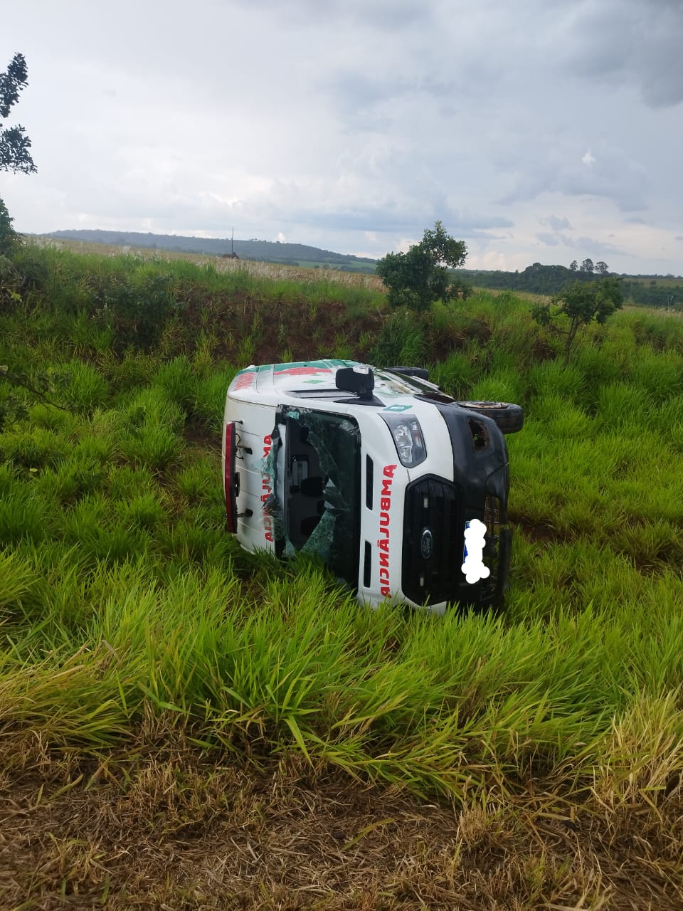
[[[510,294],[191,259],[28,248],[0,292],[0,905],[683,906],[680,319],[564,370]],[[505,611],[225,534],[229,380],[306,356],[525,405]]]

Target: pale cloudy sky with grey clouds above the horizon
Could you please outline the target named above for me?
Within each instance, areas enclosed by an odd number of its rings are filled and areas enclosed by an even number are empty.
[[[15,228],[683,273],[683,0],[25,0]]]

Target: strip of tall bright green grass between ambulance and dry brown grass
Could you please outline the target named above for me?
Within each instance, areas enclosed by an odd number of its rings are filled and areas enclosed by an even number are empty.
[[[24,558],[12,573],[10,607],[46,599],[31,592],[30,566]],[[566,788],[594,783],[603,766],[626,778],[632,757],[613,752],[613,736],[643,700],[667,706],[658,722],[683,742],[667,701],[683,645],[670,599],[656,616],[633,599],[618,614],[586,604],[513,623],[406,618],[359,612],[315,569],[266,583],[254,603],[217,568],[162,586],[136,559],[99,564],[85,587],[72,573],[68,586],[70,619],[90,619],[68,630],[61,591],[15,635],[0,666],[5,736],[31,725],[92,750],[125,740],[151,707],[204,746],[294,748],[311,763],[460,796],[514,791],[519,774]],[[640,732],[642,746],[655,734]]]

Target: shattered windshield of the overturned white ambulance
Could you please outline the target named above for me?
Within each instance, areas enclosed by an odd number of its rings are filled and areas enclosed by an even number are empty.
[[[285,555],[320,556],[337,578],[358,588],[361,434],[345,415],[285,413],[281,487]],[[280,471],[280,466],[278,466]]]

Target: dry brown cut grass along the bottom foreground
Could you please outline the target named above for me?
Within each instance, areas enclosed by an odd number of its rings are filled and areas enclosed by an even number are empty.
[[[658,806],[570,804],[539,781],[461,808],[163,737],[87,763],[5,742],[2,908],[683,907],[679,783]]]

